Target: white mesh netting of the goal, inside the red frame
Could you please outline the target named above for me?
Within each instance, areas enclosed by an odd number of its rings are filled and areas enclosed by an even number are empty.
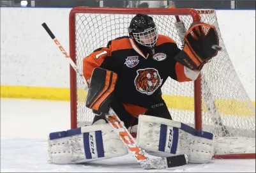
[[[136,13],[136,12],[135,12]],[[206,64],[202,70],[202,127],[220,137],[255,138],[255,106],[237,77],[229,55],[225,50],[215,13],[202,14],[202,22],[214,25],[220,36],[223,51]],[[82,70],[82,60],[99,47],[106,47],[110,40],[128,35],[128,26],[134,15],[76,13],[75,53],[77,66]],[[174,15],[151,15],[159,34],[169,36],[181,48],[175,27]],[[192,17],[179,15],[186,29]],[[162,87],[163,98],[175,121],[194,126],[194,83],[179,83],[168,79]],[[86,92],[77,75],[77,126],[91,124],[93,114],[85,106]]]

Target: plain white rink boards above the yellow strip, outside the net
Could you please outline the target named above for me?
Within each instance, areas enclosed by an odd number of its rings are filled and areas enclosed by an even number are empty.
[[[1,85],[70,86],[69,64],[63,61],[61,53],[41,27],[46,22],[69,52],[70,10],[1,8]],[[216,13],[239,79],[255,101],[255,10],[217,10]]]

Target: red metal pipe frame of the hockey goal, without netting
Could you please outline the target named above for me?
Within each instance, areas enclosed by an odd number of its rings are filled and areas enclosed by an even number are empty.
[[[215,10],[200,10],[200,14],[214,13]],[[107,13],[107,14],[136,14],[146,13],[148,15],[190,15],[193,22],[200,22],[200,15],[197,10],[190,8],[100,8],[79,6],[72,8],[69,15],[69,37],[70,57],[76,63],[75,53],[75,14],[76,13]],[[77,128],[77,75],[70,66],[70,122],[71,128]],[[195,130],[202,130],[202,91],[201,75],[194,81],[194,121]],[[218,159],[252,159],[255,153],[241,154],[215,154],[213,158]]]

